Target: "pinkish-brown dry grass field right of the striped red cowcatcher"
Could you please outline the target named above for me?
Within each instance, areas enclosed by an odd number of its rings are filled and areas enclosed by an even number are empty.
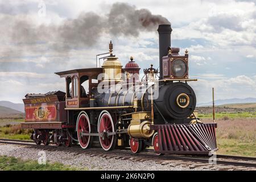
[[[212,119],[201,119],[212,122]],[[217,119],[217,154],[256,156],[256,118]]]

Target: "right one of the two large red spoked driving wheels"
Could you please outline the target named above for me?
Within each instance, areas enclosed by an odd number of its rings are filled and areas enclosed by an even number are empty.
[[[98,122],[98,133],[100,134],[101,147],[105,150],[113,150],[115,147],[115,135],[109,135],[108,133],[114,132],[114,123],[111,115],[105,111],[101,114]]]

